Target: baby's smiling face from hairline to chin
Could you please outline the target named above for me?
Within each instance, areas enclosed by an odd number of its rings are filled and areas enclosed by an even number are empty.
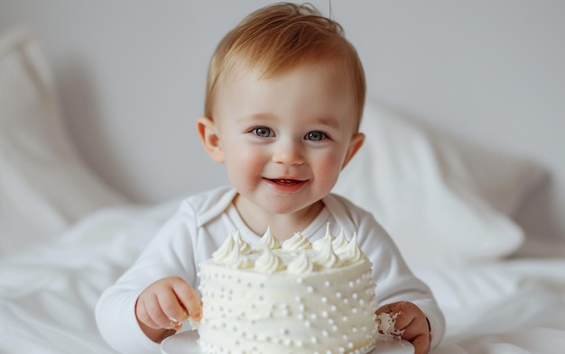
[[[303,212],[328,195],[363,141],[353,90],[329,65],[261,78],[227,77],[214,123],[240,203],[266,213]]]

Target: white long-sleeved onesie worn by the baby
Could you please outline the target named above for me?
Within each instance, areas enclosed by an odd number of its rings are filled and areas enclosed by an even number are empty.
[[[135,302],[146,286],[162,277],[179,276],[198,289],[199,263],[236,230],[254,244],[261,235],[249,230],[232,204],[236,191],[219,187],[184,200],[171,219],[153,238],[134,266],[109,287],[97,303],[96,318],[105,340],[121,353],[159,353],[135,319]],[[406,266],[394,242],[370,214],[347,199],[328,195],[325,208],[302,232],[310,241],[323,237],[327,224],[337,235],[357,232],[361,250],[373,263],[375,294],[380,304],[411,301],[420,306],[431,323],[432,348],[443,337],[445,321],[431,291]]]

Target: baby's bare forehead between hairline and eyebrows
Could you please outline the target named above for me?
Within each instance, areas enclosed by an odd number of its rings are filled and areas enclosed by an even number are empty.
[[[218,86],[215,115],[236,119],[239,114],[279,118],[290,114],[301,116],[303,123],[331,118],[341,127],[357,122],[354,90],[344,82],[343,72],[309,64],[274,77],[262,75],[257,68],[231,71]]]

